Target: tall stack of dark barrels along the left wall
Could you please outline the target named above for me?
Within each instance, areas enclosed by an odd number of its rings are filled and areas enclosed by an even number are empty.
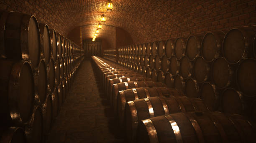
[[[65,49],[63,36],[33,15],[1,11],[0,17],[0,142],[43,143],[83,51],[69,39]]]

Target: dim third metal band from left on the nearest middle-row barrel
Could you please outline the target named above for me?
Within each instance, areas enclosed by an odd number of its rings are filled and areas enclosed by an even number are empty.
[[[197,123],[197,120],[195,119],[195,117],[193,117],[189,113],[184,113],[184,115],[187,116],[187,118],[189,119],[190,123],[194,127],[194,130],[195,130],[195,132],[197,134],[198,142],[199,143],[205,143],[204,135],[203,135],[202,130],[201,130],[199,124]]]

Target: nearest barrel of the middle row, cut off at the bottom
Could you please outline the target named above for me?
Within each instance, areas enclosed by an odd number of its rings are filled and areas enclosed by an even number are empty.
[[[255,142],[255,125],[220,112],[174,113],[138,123],[137,143]]]

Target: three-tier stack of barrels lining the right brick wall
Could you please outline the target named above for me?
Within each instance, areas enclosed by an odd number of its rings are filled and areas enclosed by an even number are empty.
[[[188,97],[203,99],[213,111],[255,120],[255,34],[251,25],[120,47],[118,63]]]

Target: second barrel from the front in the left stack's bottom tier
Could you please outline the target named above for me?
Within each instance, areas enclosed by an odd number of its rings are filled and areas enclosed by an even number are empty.
[[[25,133],[28,143],[44,142],[44,119],[40,106],[34,108],[31,120],[25,127]]]

